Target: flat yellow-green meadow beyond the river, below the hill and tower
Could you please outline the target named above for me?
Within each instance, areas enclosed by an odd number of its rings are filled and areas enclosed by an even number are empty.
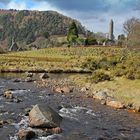
[[[0,55],[0,70],[22,69],[80,69],[87,59],[100,59],[105,56],[118,56],[120,48],[76,47],[47,48],[34,51],[15,52]]]

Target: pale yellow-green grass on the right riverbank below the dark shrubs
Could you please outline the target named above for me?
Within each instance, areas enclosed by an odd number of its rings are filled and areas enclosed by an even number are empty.
[[[116,78],[113,81],[104,81],[92,83],[87,80],[87,76],[71,76],[75,84],[81,88],[90,85],[91,90],[107,90],[110,96],[113,96],[118,101],[125,105],[133,104],[135,108],[140,107],[140,80],[129,80],[126,78]],[[93,93],[90,93],[91,95]]]

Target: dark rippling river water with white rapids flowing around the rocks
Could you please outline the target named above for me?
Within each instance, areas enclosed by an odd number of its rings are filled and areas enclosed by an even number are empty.
[[[0,120],[11,121],[0,128],[0,140],[17,140],[18,130],[28,129],[25,109],[40,103],[49,104],[63,117],[63,132],[35,140],[140,140],[140,114],[111,109],[93,99],[82,98],[78,91],[55,94],[47,88],[37,88],[32,82],[15,83],[15,77],[17,75],[0,78],[0,95],[11,89],[14,96],[22,100],[10,102],[0,96]]]

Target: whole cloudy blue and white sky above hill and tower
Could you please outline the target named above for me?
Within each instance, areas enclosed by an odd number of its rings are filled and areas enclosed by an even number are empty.
[[[123,33],[123,23],[140,18],[140,0],[0,0],[1,9],[57,11],[79,20],[93,32],[108,33],[114,21],[114,35]]]

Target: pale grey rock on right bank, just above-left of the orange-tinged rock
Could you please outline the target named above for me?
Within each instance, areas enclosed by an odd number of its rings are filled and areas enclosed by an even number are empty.
[[[94,93],[93,98],[98,100],[106,100],[108,97],[107,92],[105,91],[98,91]]]

